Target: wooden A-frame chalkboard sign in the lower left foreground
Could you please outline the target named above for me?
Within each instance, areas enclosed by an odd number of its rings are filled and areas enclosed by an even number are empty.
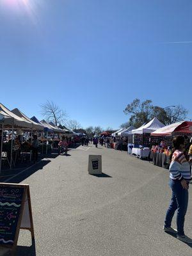
[[[14,254],[20,229],[35,239],[29,185],[0,183],[0,246]]]

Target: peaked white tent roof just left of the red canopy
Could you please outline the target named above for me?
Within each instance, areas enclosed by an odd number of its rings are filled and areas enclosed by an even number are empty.
[[[147,124],[142,125],[138,129],[132,130],[131,134],[151,133],[162,127],[164,127],[164,124],[162,124],[156,117],[154,117],[154,119],[150,120],[150,122]]]

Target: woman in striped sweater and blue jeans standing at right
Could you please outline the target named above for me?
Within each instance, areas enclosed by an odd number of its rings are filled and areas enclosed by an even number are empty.
[[[177,234],[177,239],[192,243],[192,239],[184,234],[184,219],[188,209],[188,189],[191,180],[191,166],[184,155],[184,137],[173,138],[173,149],[170,155],[170,188],[172,199],[164,220],[164,231]],[[172,218],[177,210],[177,230],[171,227]]]

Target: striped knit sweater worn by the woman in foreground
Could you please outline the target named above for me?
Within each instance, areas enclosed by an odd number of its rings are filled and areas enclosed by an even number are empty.
[[[172,180],[191,180],[191,166],[186,160],[183,152],[175,150],[170,164],[170,179]]]

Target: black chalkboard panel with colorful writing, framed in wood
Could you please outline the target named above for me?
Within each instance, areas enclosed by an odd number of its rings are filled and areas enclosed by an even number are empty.
[[[0,245],[14,244],[24,191],[25,188],[0,184]]]

